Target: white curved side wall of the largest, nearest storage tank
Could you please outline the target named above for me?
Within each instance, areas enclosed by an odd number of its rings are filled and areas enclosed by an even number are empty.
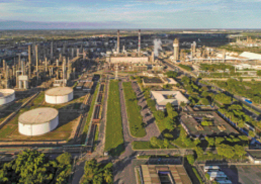
[[[23,135],[42,135],[52,131],[58,126],[59,116],[57,115],[52,121],[42,124],[22,124],[18,122],[18,131]]]

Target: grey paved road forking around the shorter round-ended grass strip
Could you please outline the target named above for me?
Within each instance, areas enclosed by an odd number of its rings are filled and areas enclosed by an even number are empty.
[[[120,88],[120,100],[121,100],[121,110],[122,110],[122,127],[123,127],[123,136],[124,136],[124,145],[125,152],[119,157],[119,164],[115,165],[115,175],[114,175],[114,183],[115,184],[135,184],[135,175],[134,175],[134,167],[132,166],[132,159],[135,158],[139,151],[134,151],[132,149],[131,143],[133,141],[149,141],[152,136],[159,136],[159,131],[155,124],[155,120],[152,117],[150,111],[148,110],[146,101],[144,99],[143,94],[139,90],[139,86],[135,83],[132,84],[135,92],[138,93],[139,105],[141,105],[141,115],[144,117],[143,121],[146,123],[146,132],[147,135],[142,138],[135,138],[130,135],[128,120],[127,120],[127,112],[124,101],[124,93],[122,89],[122,82],[119,83]],[[166,151],[164,151],[166,154]],[[168,151],[169,152],[169,151]],[[152,154],[155,154],[156,151],[152,151]],[[140,153],[141,154],[141,153]],[[116,162],[117,163],[117,162]]]

